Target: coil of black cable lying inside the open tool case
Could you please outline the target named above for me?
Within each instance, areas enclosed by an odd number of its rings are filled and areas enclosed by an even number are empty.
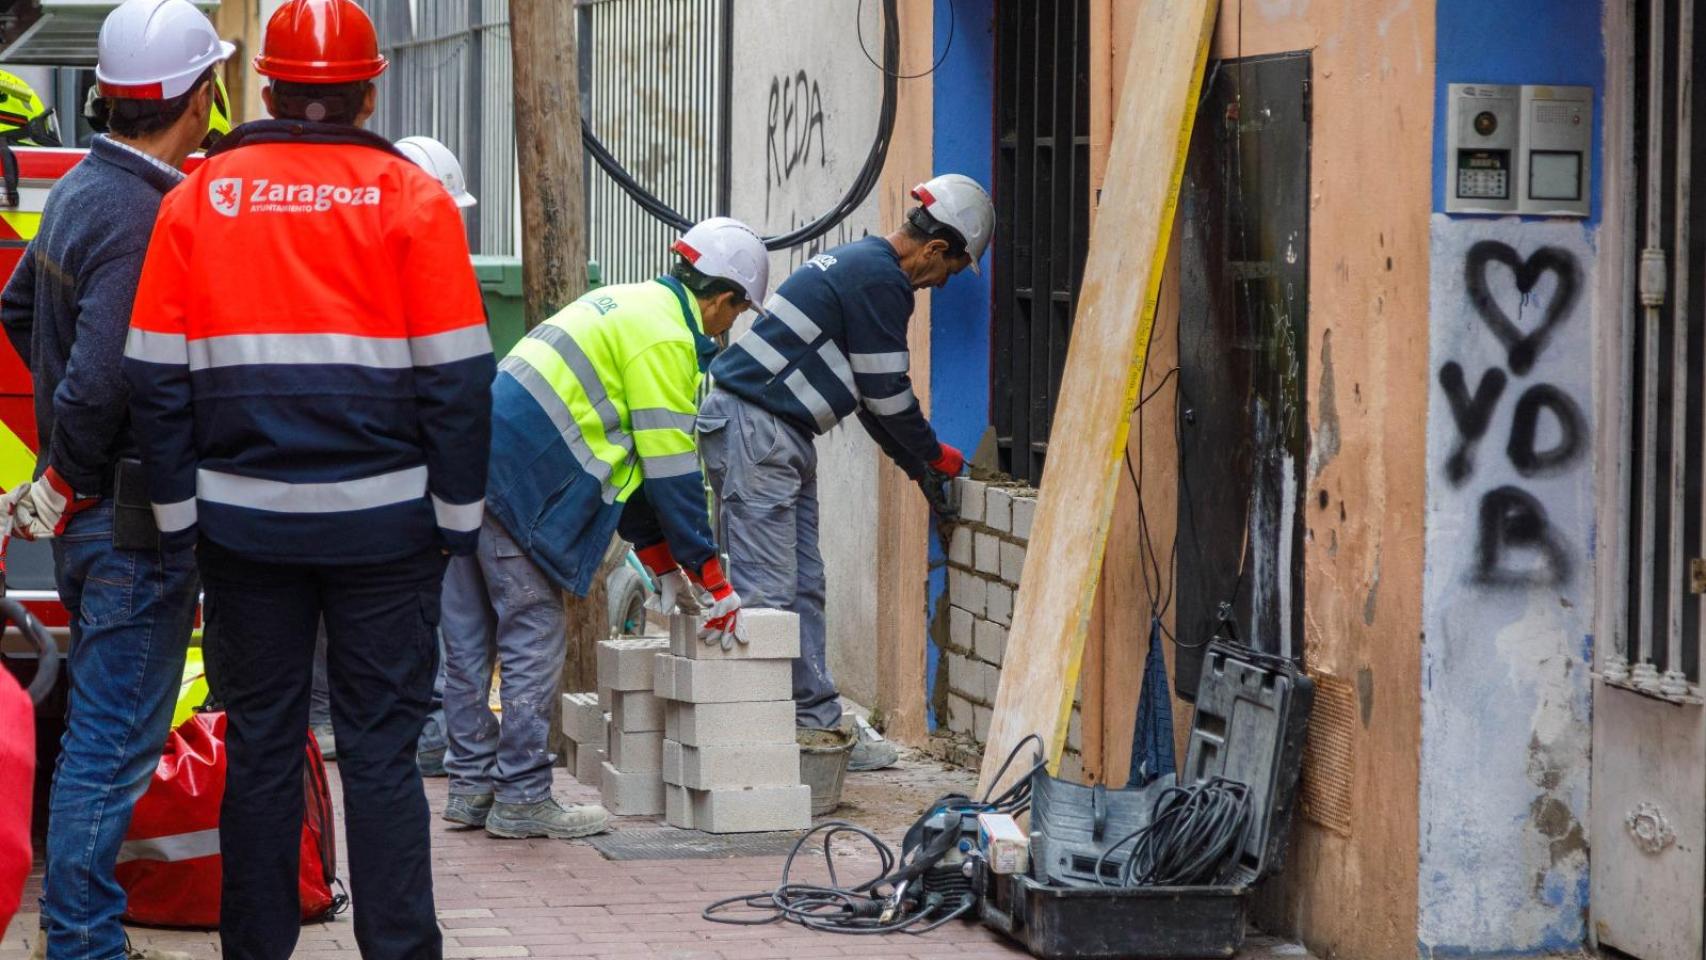
[[[1192,786],[1172,786],[1155,798],[1148,825],[1117,839],[1095,859],[1104,887],[1218,887],[1232,880],[1244,856],[1254,812],[1250,788],[1215,778]],[[1107,880],[1105,865],[1119,847],[1131,854]]]

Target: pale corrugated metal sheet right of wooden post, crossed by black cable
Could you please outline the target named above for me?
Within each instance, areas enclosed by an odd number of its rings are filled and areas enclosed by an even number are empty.
[[[623,167],[689,220],[728,208],[728,0],[582,7],[582,109]],[[589,251],[607,283],[669,266],[676,230],[589,162]]]

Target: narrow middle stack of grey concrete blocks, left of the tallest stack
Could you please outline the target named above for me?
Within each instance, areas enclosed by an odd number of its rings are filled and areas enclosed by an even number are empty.
[[[619,817],[664,812],[664,704],[652,692],[665,636],[599,643],[599,685],[611,691],[609,757],[599,771],[604,808]]]

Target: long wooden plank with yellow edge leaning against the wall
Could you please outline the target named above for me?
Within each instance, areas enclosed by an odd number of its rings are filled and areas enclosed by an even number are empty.
[[[1059,769],[1215,31],[1216,2],[1136,2],[1141,31],[1090,234],[979,791],[1000,793],[1029,769],[1013,764],[993,783],[1032,733]]]

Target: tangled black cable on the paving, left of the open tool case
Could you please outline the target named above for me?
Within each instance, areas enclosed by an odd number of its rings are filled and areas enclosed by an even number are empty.
[[[722,900],[706,905],[699,916],[711,922],[737,926],[763,926],[788,921],[810,929],[821,929],[824,933],[848,934],[920,934],[937,929],[955,917],[966,916],[976,905],[976,897],[969,892],[960,893],[959,902],[952,902],[940,892],[921,892],[914,888],[914,885],[923,885],[925,875],[942,863],[942,858],[957,847],[960,841],[957,822],[942,829],[930,839],[925,837],[926,824],[940,813],[954,817],[976,813],[1017,815],[1029,810],[1030,784],[1034,779],[1032,774],[1047,766],[1041,755],[1022,779],[1010,784],[998,796],[991,798],[989,795],[995,789],[993,784],[1001,783],[1001,778],[1013,766],[1013,760],[1030,742],[1036,742],[1041,750],[1042,738],[1036,733],[1020,740],[1013,750],[1008,752],[1007,762],[1001,764],[1000,772],[996,772],[989,789],[984,791],[983,800],[971,800],[962,793],[949,793],[931,803],[906,830],[906,841],[902,842],[902,853],[899,856],[896,856],[894,847],[882,842],[882,839],[868,829],[846,820],[829,820],[812,827],[798,841],[795,841],[781,865],[781,883],[775,888],[759,893],[737,893],[734,897],[723,897]],[[851,887],[841,883],[841,878],[836,875],[836,861],[834,856],[831,856],[829,842],[843,834],[865,841],[877,853],[875,876],[853,883]],[[822,854],[829,870],[829,883],[797,883],[793,880],[793,861],[807,847],[812,837],[817,836],[822,836]],[[744,916],[730,914],[728,911],[734,907],[746,907],[752,912]]]

